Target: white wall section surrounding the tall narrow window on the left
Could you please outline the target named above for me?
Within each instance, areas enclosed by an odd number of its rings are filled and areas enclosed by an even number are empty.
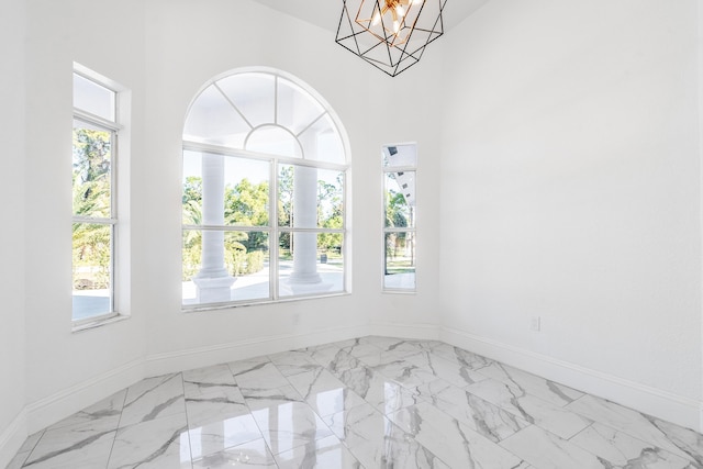
[[[74,60],[133,90],[144,127],[144,20],[138,1],[30,1],[26,54],[26,405],[30,432],[142,376],[144,319],[71,332]],[[136,54],[134,52],[137,52]],[[143,131],[142,131],[143,132]],[[144,157],[135,132],[132,158]],[[127,148],[125,148],[125,154]],[[129,171],[120,175],[129,178]],[[130,208],[123,206],[129,215]],[[129,216],[126,216],[129,221]],[[129,238],[135,226],[127,223]],[[129,259],[126,259],[129,260]],[[129,291],[129,283],[121,286]],[[129,304],[122,304],[130,312]]]

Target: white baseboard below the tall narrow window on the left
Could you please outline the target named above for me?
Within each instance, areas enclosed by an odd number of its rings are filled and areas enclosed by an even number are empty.
[[[136,359],[32,402],[25,406],[27,432],[31,435],[134,384],[143,378],[144,360]]]

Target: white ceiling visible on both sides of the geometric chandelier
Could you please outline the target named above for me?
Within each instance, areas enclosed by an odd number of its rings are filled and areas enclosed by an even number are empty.
[[[316,26],[337,31],[343,0],[254,0]],[[447,0],[443,21],[445,33],[481,8],[489,0]]]

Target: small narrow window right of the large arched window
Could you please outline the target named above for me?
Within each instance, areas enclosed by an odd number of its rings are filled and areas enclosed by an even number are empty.
[[[383,147],[383,290],[415,291],[414,144]]]

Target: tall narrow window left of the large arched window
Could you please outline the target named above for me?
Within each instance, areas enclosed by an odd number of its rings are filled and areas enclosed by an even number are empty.
[[[72,319],[115,313],[118,93],[74,71]]]

